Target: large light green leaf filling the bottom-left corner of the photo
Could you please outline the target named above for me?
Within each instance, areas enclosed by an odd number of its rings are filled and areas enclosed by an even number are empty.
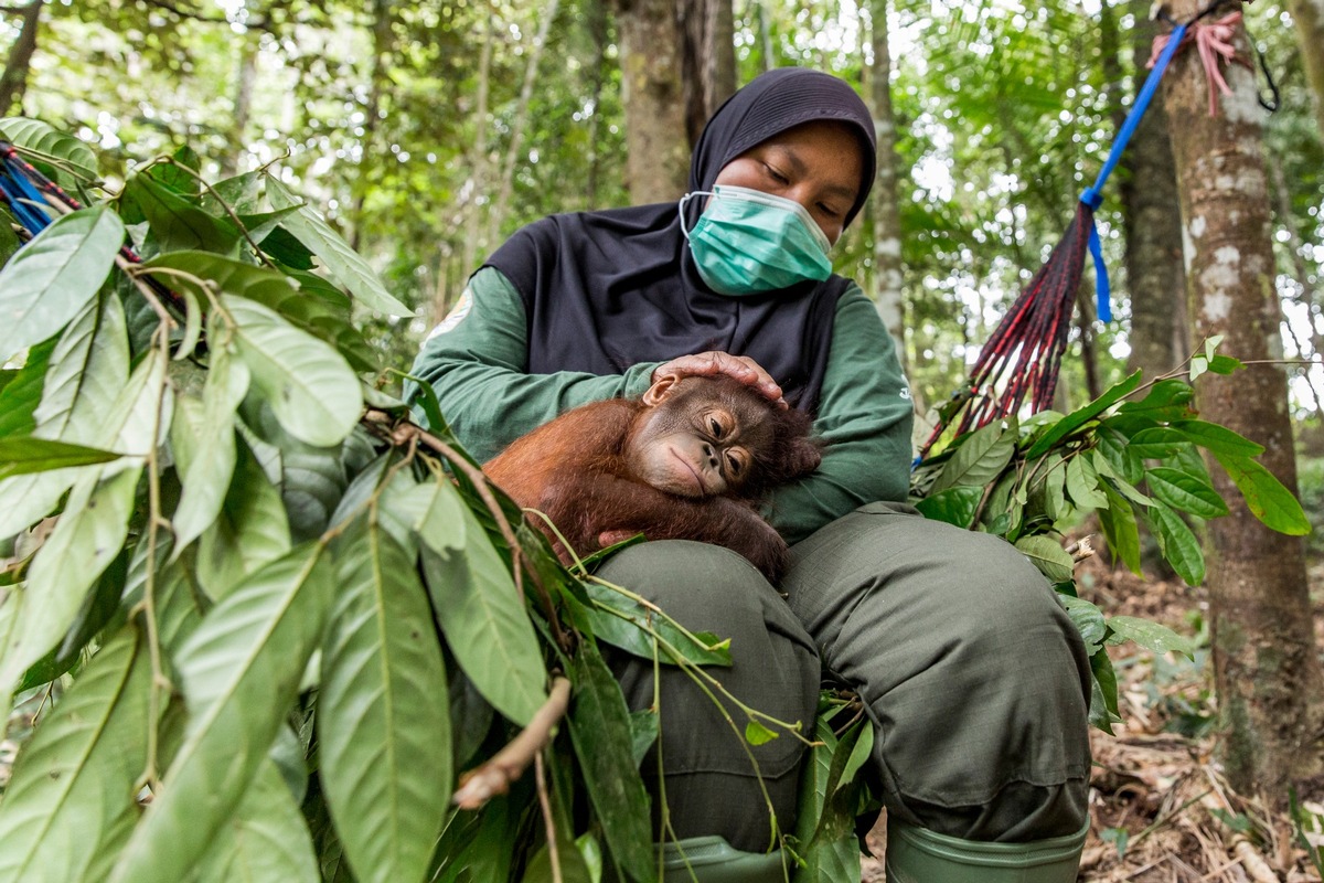
[[[15,765],[0,804],[0,880],[105,879],[138,821],[151,665],[128,626],[93,657]]]

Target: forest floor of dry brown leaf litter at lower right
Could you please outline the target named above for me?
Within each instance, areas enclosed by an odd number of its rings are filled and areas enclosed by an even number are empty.
[[[1139,579],[1100,556],[1076,569],[1080,596],[1107,616],[1137,616],[1194,637],[1196,659],[1155,657],[1133,643],[1111,647],[1124,723],[1091,731],[1091,827],[1078,880],[1084,883],[1307,883],[1320,874],[1287,812],[1234,793],[1215,759],[1207,597],[1180,579]],[[1324,646],[1324,563],[1309,573]],[[1324,782],[1300,794],[1308,830],[1324,845]],[[886,818],[870,833],[878,858],[863,883],[882,883]]]

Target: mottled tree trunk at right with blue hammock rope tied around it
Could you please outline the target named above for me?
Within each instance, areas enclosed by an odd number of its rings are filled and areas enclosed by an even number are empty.
[[[1194,0],[1173,9],[1196,15]],[[1237,34],[1246,57],[1245,30]],[[1165,77],[1186,242],[1188,311],[1196,340],[1225,335],[1222,352],[1268,359],[1279,335],[1263,158],[1263,113],[1255,78],[1225,68],[1233,89],[1207,110],[1207,85],[1194,52],[1180,53]],[[1201,417],[1264,446],[1260,462],[1296,492],[1296,461],[1280,367],[1253,364],[1197,384]],[[1221,753],[1233,786],[1286,800],[1287,786],[1317,772],[1321,678],[1311,627],[1301,541],[1250,516],[1215,463],[1211,473],[1231,515],[1209,523],[1206,557],[1213,616],[1214,676],[1222,716]]]

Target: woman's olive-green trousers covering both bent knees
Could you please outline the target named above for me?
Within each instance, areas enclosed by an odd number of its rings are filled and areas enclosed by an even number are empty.
[[[600,576],[690,629],[730,637],[733,666],[711,674],[775,718],[808,729],[822,673],[854,687],[874,721],[873,772],[890,817],[973,841],[1080,830],[1090,666],[1025,556],[910,506],[873,503],[793,547],[792,560],[773,588],[728,549],[671,540],[628,548]],[[650,707],[653,663],[620,653],[613,667],[630,707]],[[657,692],[662,736],[643,770],[655,806],[665,790],[675,835],[767,850],[769,800],[779,826],[794,826],[801,743],[751,748],[674,667],[663,666]],[[661,781],[649,776],[658,751]]]

